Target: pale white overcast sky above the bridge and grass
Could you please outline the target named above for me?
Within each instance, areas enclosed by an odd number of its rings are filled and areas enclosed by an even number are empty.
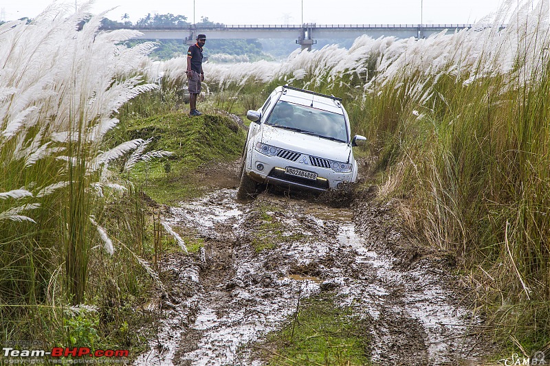
[[[117,7],[107,18],[130,21],[146,14],[187,16],[188,21],[236,24],[454,24],[474,23],[496,12],[503,0],[96,0],[92,12]],[[83,0],[58,0],[74,10]],[[50,0],[0,0],[0,20],[32,18]]]

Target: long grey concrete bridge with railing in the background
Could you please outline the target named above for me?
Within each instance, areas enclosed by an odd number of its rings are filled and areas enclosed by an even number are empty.
[[[181,39],[195,43],[197,34],[208,39],[294,38],[302,49],[311,49],[319,38],[357,38],[366,34],[373,38],[395,36],[397,38],[425,38],[443,30],[454,32],[471,28],[472,24],[331,24],[318,25],[217,25],[203,27],[132,27],[142,32],[137,39]],[[112,28],[104,28],[109,30]]]

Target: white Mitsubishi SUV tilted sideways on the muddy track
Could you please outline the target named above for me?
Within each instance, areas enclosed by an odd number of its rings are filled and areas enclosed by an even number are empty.
[[[256,193],[261,183],[305,190],[338,190],[357,179],[351,137],[342,100],[285,85],[277,87],[258,111],[248,111],[248,129],[237,198]]]

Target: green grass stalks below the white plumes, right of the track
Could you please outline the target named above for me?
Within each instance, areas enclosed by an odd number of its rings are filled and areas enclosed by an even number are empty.
[[[540,62],[524,82],[510,73],[467,87],[441,77],[430,108],[382,89],[360,120],[379,137],[387,196],[412,212],[421,244],[460,259],[504,350],[512,336],[528,351],[550,339],[549,70]]]

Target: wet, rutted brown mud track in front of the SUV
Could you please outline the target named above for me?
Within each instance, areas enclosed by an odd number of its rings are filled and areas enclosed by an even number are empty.
[[[363,197],[334,208],[281,192],[234,196],[220,188],[166,211],[203,249],[164,258],[162,320],[136,365],[263,365],[256,345],[292,316],[299,297],[322,291],[370,324],[375,364],[480,356],[470,335],[479,319],[448,286],[441,260],[419,255],[394,226],[391,203]]]

